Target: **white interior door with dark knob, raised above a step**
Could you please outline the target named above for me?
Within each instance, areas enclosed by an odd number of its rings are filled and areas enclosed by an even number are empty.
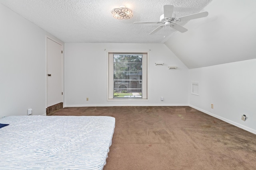
[[[47,107],[62,102],[62,45],[47,38]]]

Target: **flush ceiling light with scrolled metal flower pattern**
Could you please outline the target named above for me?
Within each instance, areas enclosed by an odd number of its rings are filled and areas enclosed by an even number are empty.
[[[132,18],[132,10],[125,6],[120,6],[119,8],[114,8],[111,13],[113,14],[114,18],[117,18],[118,20],[122,19],[130,19]]]

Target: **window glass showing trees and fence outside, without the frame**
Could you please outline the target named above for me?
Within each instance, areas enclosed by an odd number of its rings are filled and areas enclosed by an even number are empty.
[[[142,54],[114,54],[114,98],[142,98]]]

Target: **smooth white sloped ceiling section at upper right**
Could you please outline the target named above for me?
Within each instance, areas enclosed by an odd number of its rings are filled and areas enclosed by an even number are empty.
[[[189,21],[166,46],[188,68],[256,58],[256,1],[213,0],[206,18]]]

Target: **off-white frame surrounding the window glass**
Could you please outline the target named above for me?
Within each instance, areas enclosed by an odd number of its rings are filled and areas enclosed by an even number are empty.
[[[114,54],[142,54],[142,98],[114,98]],[[148,52],[108,52],[107,55],[107,100],[148,101]]]

